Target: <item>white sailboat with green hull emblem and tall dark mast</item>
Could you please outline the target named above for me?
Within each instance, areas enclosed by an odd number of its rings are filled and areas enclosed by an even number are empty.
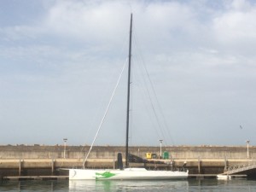
[[[119,169],[68,169],[69,180],[167,180],[187,178],[188,171],[148,171],[145,168],[129,168],[128,166],[128,136],[129,136],[129,111],[130,111],[130,84],[131,84],[131,32],[132,14],[130,24],[128,88],[127,88],[127,113],[126,113],[126,146],[125,167]]]

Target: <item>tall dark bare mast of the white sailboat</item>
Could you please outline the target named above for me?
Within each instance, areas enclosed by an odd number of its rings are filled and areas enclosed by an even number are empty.
[[[130,24],[129,65],[128,65],[128,84],[127,84],[125,166],[128,166],[128,147],[129,147],[129,115],[130,115],[130,85],[131,85],[131,32],[132,32],[132,14],[131,14],[131,24]]]

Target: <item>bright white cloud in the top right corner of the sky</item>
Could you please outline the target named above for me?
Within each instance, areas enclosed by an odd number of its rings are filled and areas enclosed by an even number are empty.
[[[222,45],[247,47],[252,46],[256,41],[256,23],[253,18],[256,16],[256,6],[247,1],[233,1],[230,9],[224,10],[213,19],[212,29],[215,38]],[[240,49],[242,50],[242,49]]]

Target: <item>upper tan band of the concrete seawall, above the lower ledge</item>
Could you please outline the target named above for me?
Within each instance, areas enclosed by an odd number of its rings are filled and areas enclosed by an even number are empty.
[[[89,151],[89,146],[67,146],[66,158],[80,159]],[[256,158],[256,147],[249,147],[249,158]],[[162,151],[170,153],[172,159],[246,159],[247,147],[219,147],[219,146],[169,146],[162,147]],[[91,159],[113,159],[119,152],[125,152],[125,147],[96,146],[90,153]],[[130,148],[131,154],[145,157],[148,152],[160,154],[160,147],[134,146]],[[0,146],[0,160],[2,159],[60,159],[64,156],[64,147],[55,146]]]

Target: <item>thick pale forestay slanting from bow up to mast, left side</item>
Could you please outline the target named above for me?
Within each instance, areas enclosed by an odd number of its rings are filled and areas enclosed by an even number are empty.
[[[126,59],[126,61],[125,61],[125,65],[126,65],[126,63],[127,63],[127,59]],[[94,145],[94,143],[95,143],[95,141],[96,141],[96,137],[98,136],[98,133],[99,133],[99,131],[100,131],[101,128],[102,128],[102,124],[103,124],[103,122],[104,122],[104,120],[105,120],[105,118],[106,118],[106,116],[107,116],[108,108],[110,107],[110,104],[111,104],[112,101],[113,101],[113,96],[115,95],[115,91],[116,91],[117,88],[118,88],[119,81],[120,81],[120,79],[121,79],[121,77],[122,77],[122,74],[123,74],[123,72],[124,72],[124,70],[125,70],[125,65],[124,65],[124,67],[122,68],[122,71],[121,71],[121,73],[120,73],[120,75],[119,75],[118,82],[117,82],[117,84],[115,85],[115,87],[114,87],[114,89],[113,89],[113,94],[112,94],[112,96],[111,96],[111,98],[110,98],[110,101],[108,102],[108,107],[106,108],[106,111],[105,111],[105,113],[104,113],[104,115],[103,115],[102,121],[101,121],[101,123],[100,123],[100,125],[99,125],[99,127],[98,127],[98,130],[96,131],[96,136],[94,137],[94,139],[93,139],[93,141],[92,141],[92,143],[91,143],[91,145],[90,145],[89,152],[88,152],[88,154],[86,155],[86,157],[85,157],[85,159],[84,159],[83,168],[84,168],[85,162],[86,162],[87,159],[88,159],[88,156],[89,156],[89,154],[90,154],[91,148],[92,148],[92,146]]]

